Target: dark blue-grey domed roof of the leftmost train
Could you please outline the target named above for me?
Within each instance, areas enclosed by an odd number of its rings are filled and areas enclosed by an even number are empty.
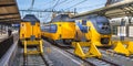
[[[35,18],[34,14],[27,14],[23,19],[23,22],[40,22],[38,18]]]

